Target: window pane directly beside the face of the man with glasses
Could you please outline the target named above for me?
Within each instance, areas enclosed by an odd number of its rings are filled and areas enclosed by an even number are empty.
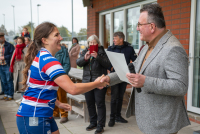
[[[140,16],[140,7],[130,8],[127,11],[127,41],[134,49],[139,49],[140,35],[137,31],[137,22]]]

